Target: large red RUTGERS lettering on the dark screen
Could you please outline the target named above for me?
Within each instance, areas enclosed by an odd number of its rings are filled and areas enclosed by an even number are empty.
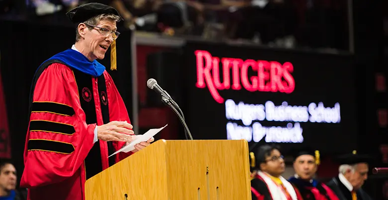
[[[233,90],[240,90],[240,78],[243,87],[250,91],[262,92],[285,92],[291,93],[295,89],[295,80],[291,73],[293,66],[290,62],[283,65],[279,62],[254,61],[248,59],[243,61],[235,58],[222,58],[223,81],[220,80],[220,59],[212,57],[207,51],[195,51],[197,82],[196,87],[208,87],[211,96],[218,103],[223,103],[224,99],[218,90],[230,89],[230,71],[232,71]],[[248,69],[252,68],[256,75],[249,77]],[[241,72],[240,72],[241,68]],[[210,70],[212,73],[210,73]],[[241,76],[240,76],[241,75]]]

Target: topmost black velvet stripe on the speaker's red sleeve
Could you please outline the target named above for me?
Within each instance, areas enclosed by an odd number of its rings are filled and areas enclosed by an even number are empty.
[[[74,109],[71,106],[55,102],[33,102],[31,112],[46,112],[64,116],[73,116],[75,114]]]

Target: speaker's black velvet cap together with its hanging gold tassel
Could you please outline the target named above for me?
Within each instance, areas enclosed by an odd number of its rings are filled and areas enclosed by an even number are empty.
[[[122,21],[120,14],[116,9],[109,5],[102,3],[85,3],[75,7],[66,13],[66,16],[73,23],[82,23],[92,17],[98,16],[100,14],[114,14],[119,17],[118,21]],[[110,69],[116,70],[117,61],[116,61],[116,40],[113,40],[110,44]]]

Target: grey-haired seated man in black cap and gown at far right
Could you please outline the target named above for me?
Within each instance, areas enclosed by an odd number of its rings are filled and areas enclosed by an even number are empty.
[[[341,155],[338,160],[339,174],[326,185],[330,187],[340,200],[372,200],[372,198],[361,189],[365,180],[368,179],[371,158],[367,155],[353,154]]]

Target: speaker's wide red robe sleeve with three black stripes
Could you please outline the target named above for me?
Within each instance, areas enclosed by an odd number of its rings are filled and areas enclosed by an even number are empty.
[[[21,187],[65,180],[93,147],[96,124],[86,124],[73,71],[52,64],[39,76],[24,149]]]

